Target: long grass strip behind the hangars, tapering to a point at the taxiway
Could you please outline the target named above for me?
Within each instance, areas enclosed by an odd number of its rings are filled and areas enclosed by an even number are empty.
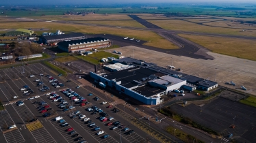
[[[61,24],[56,22],[4,22],[1,23],[2,29],[18,29],[22,27],[44,27],[45,29],[51,29],[48,32],[55,32],[56,30],[64,29],[64,32],[82,32],[82,33],[107,33],[112,35],[119,35],[122,37],[134,37],[136,39],[141,39],[147,41],[144,45],[153,46],[156,48],[165,49],[175,49],[178,48],[175,44],[172,44],[167,39],[153,33],[151,31],[138,31],[129,29],[118,29],[118,28],[108,28],[108,27],[92,27],[84,25],[74,25],[74,24]]]

